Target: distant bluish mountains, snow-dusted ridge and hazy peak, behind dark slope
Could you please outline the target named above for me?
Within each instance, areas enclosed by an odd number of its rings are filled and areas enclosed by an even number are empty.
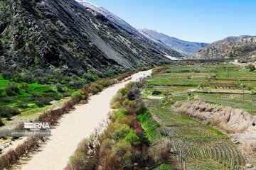
[[[208,45],[208,43],[178,40],[177,38],[172,38],[168,35],[158,33],[155,30],[148,30],[146,28],[137,30],[136,28],[133,28],[131,25],[129,25],[129,23],[122,20],[122,18],[119,18],[119,16],[116,16],[114,13],[111,13],[101,6],[96,6],[85,0],[76,1],[80,2],[84,6],[87,6],[88,8],[91,8],[94,11],[97,11],[98,13],[101,13],[107,19],[112,21],[117,26],[117,28],[119,28],[119,30],[129,33],[129,35],[132,35],[134,38],[142,40],[147,45],[155,47],[162,52],[168,52],[169,54],[167,55],[171,57],[177,57],[177,55],[170,53],[169,50],[175,50],[176,52],[181,53],[183,57],[187,57],[188,55],[191,55],[192,53],[201,50],[202,47],[206,47]]]

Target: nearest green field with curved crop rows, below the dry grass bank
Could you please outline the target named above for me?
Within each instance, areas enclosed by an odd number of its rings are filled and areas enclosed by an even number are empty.
[[[166,130],[174,146],[178,168],[183,169],[240,169],[242,154],[223,133],[200,122],[174,113],[161,101],[146,101],[155,120]],[[157,106],[157,103],[159,106]]]

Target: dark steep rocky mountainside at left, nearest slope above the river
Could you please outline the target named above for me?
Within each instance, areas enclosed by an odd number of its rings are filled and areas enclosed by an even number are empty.
[[[116,72],[170,61],[74,0],[0,1],[0,40],[1,70]]]

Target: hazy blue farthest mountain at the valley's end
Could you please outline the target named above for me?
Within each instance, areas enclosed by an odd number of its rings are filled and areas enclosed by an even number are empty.
[[[154,40],[162,45],[167,45],[172,49],[180,52],[184,56],[188,56],[193,54],[194,52],[198,52],[203,47],[206,47],[208,43],[203,42],[188,42],[184,40],[179,40],[174,37],[169,37],[168,35],[164,35],[163,33],[158,33],[156,30],[148,30],[146,28],[139,29],[139,32],[145,35],[147,38]]]

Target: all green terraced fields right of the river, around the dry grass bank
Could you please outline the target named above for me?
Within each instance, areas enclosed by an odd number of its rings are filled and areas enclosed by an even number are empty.
[[[172,105],[190,98],[222,106],[256,111],[255,72],[234,66],[171,66],[147,81],[142,97],[152,118],[172,143],[177,169],[242,169],[245,159],[238,146],[207,125],[176,114]],[[256,85],[256,84],[255,84]],[[225,89],[230,93],[202,93],[199,89]],[[233,94],[247,90],[251,94]],[[154,96],[156,99],[152,99]],[[252,112],[253,113],[253,112]],[[159,130],[161,131],[161,130]]]

